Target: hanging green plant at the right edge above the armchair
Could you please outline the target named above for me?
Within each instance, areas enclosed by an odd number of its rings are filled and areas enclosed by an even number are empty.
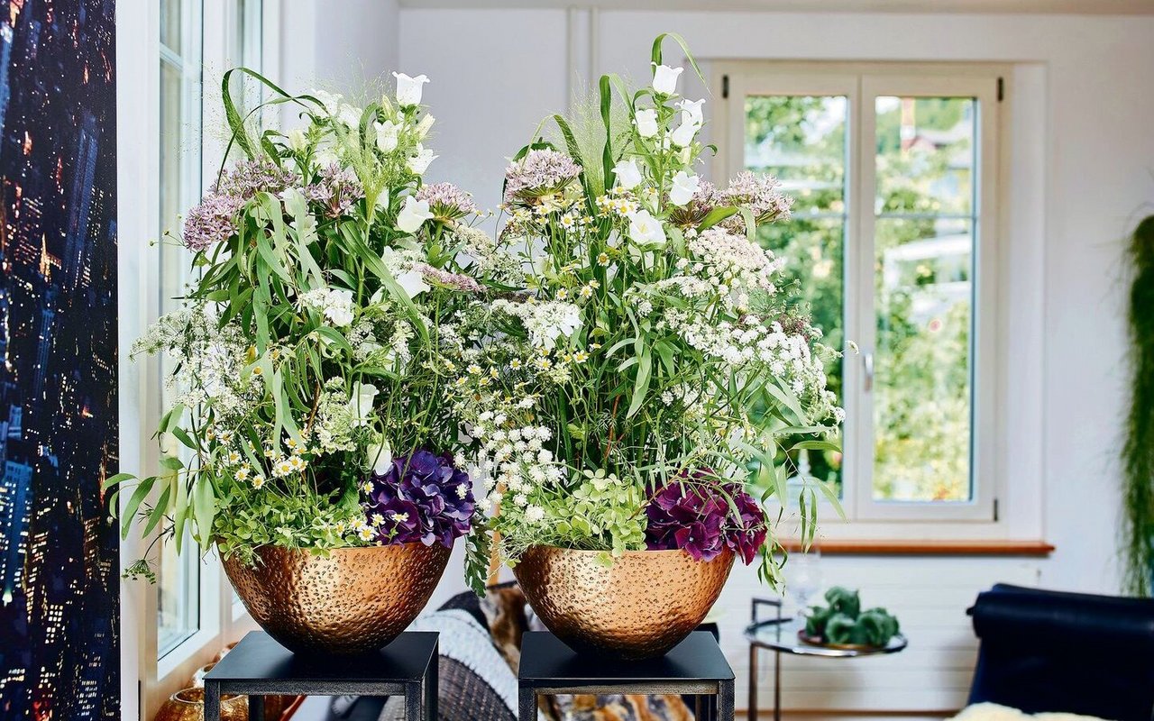
[[[1123,584],[1129,593],[1152,595],[1154,585],[1154,216],[1138,224],[1130,256],[1130,343],[1133,393],[1122,452],[1125,523]]]

